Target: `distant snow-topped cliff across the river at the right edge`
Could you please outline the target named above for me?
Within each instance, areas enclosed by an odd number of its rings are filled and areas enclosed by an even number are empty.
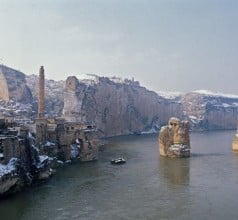
[[[193,129],[236,129],[238,96],[201,90],[185,94],[181,101]]]

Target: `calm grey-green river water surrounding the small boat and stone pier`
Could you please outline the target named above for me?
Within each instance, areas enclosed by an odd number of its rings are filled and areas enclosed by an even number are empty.
[[[0,201],[0,219],[238,219],[234,133],[192,133],[188,159],[158,157],[157,135],[109,139],[99,161]],[[120,156],[125,165],[109,163]]]

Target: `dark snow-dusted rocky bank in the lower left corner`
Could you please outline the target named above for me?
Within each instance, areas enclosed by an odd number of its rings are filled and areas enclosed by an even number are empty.
[[[48,179],[50,164],[28,128],[0,120],[0,198]]]

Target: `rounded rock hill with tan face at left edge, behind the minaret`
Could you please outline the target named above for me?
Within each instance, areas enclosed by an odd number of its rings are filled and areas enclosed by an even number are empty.
[[[31,103],[32,94],[26,85],[25,75],[4,65],[0,66],[0,99]]]

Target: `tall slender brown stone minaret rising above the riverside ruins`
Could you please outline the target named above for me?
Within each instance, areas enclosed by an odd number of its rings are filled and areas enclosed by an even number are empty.
[[[39,72],[39,91],[38,91],[38,118],[45,117],[45,71],[44,67],[40,67]]]

